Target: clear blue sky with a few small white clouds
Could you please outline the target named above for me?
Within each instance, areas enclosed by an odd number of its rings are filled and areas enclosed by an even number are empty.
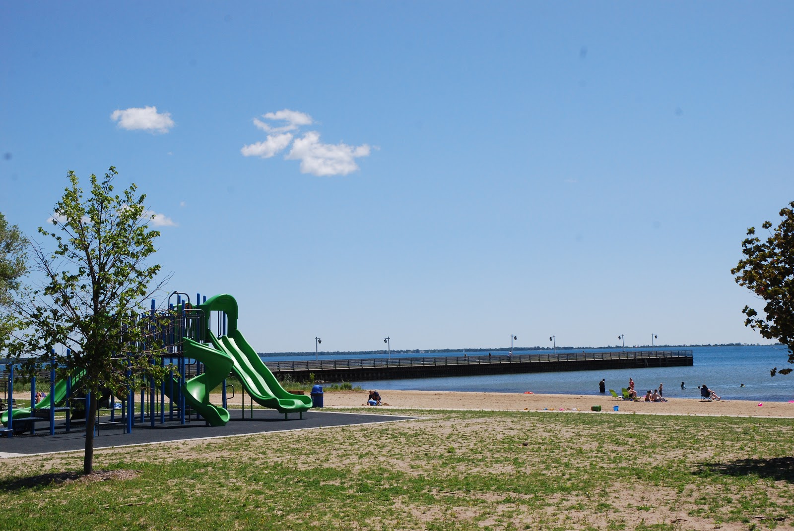
[[[260,352],[768,342],[730,275],[794,199],[790,2],[6,2],[0,211],[158,214]],[[269,137],[269,138],[268,138]]]

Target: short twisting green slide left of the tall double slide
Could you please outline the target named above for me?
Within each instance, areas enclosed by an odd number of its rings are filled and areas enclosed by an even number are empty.
[[[225,352],[206,344],[197,343],[187,337],[183,339],[184,355],[195,358],[204,364],[204,372],[187,380],[182,386],[185,402],[190,404],[210,425],[226,425],[226,422],[229,421],[229,410],[210,404],[210,392],[229,375],[234,362]],[[177,379],[174,379],[174,385],[179,387]]]

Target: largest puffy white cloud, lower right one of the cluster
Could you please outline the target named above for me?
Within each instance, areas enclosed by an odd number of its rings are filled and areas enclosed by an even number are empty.
[[[368,156],[367,144],[351,146],[348,144],[322,144],[320,133],[310,131],[295,139],[287,160],[300,160],[300,171],[312,175],[347,175],[358,169],[356,159]]]

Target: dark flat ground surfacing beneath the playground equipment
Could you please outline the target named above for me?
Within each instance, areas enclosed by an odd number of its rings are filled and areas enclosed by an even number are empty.
[[[237,411],[239,410],[235,410],[235,412]],[[232,418],[225,426],[206,425],[203,420],[186,422],[184,425],[179,421],[166,421],[164,424],[160,424],[158,421],[154,427],[136,423],[132,433],[124,433],[124,426],[121,423],[109,424],[106,423],[108,419],[103,417],[94,437],[94,449],[190,439],[235,437],[295,429],[322,429],[332,426],[405,421],[415,418],[379,414],[333,413],[319,410],[306,411],[303,413],[302,419],[295,416],[288,420],[285,420],[284,415],[276,410],[253,410],[252,414],[252,418],[249,417],[249,412],[246,412],[245,418]],[[0,458],[83,450],[86,444],[84,427],[73,425],[68,433],[64,429],[64,423],[60,422],[56,424],[55,435],[49,435],[48,429],[38,429],[40,434],[36,435],[0,437]]]

